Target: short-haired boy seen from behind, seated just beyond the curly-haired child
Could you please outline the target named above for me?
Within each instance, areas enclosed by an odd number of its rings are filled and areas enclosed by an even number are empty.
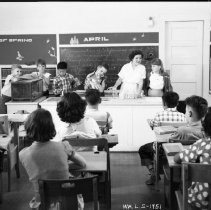
[[[102,134],[107,134],[109,129],[112,128],[112,118],[108,112],[99,110],[99,104],[101,103],[100,91],[97,89],[87,89],[85,98],[87,101],[86,116],[94,118],[97,122],[105,122],[105,126],[100,126]]]

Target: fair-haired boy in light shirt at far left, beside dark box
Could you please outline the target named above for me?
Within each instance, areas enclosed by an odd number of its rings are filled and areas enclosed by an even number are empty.
[[[13,64],[11,66],[11,74],[6,77],[4,87],[1,89],[1,114],[7,113],[7,106],[5,103],[10,101],[12,97],[11,82],[18,81],[21,75],[22,67],[18,64]]]

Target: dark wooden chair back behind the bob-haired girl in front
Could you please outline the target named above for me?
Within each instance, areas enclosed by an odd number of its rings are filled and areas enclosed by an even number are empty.
[[[49,209],[52,203],[60,210],[78,210],[78,194],[82,194],[85,203],[93,201],[94,208],[91,209],[99,209],[97,176],[71,180],[46,179],[38,180],[38,183],[41,210]]]

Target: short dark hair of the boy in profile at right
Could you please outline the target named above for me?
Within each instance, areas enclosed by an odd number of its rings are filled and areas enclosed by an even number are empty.
[[[185,104],[190,106],[196,113],[198,120],[202,119],[208,110],[207,100],[201,96],[190,96],[185,99]]]

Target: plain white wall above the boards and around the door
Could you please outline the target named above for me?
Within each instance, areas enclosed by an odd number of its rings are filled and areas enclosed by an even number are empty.
[[[2,2],[0,34],[161,32],[163,20],[184,15],[195,20],[201,16],[206,19],[203,96],[211,104],[208,94],[209,2]],[[155,20],[152,28],[147,26],[149,16]],[[162,52],[160,56],[162,58]]]

